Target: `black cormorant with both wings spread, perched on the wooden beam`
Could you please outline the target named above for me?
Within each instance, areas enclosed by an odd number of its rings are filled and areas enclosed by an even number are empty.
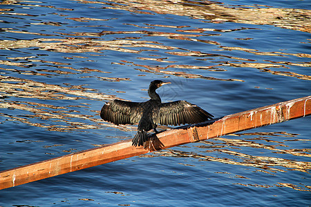
[[[138,132],[133,138],[133,146],[143,146],[147,141],[147,132],[153,129],[156,133],[157,124],[181,125],[197,124],[214,117],[202,108],[187,101],[162,103],[156,90],[165,84],[159,80],[151,81],[148,95],[151,99],[145,102],[113,100],[106,103],[100,112],[104,121],[113,124],[137,124]]]

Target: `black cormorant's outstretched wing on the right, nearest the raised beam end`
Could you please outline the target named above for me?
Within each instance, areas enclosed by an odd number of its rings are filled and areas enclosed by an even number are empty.
[[[153,111],[153,121],[161,125],[196,124],[214,117],[202,108],[187,101],[162,103]]]

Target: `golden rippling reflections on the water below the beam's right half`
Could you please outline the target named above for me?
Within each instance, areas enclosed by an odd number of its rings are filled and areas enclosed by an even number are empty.
[[[296,161],[295,159],[283,159],[280,157],[272,157],[272,156],[269,157],[255,156],[238,151],[241,150],[242,147],[261,148],[265,150],[270,150],[270,152],[276,154],[290,154],[293,156],[311,157],[310,148],[292,149],[289,146],[285,145],[285,141],[303,141],[305,142],[305,145],[308,146],[308,142],[311,141],[311,139],[303,139],[303,140],[290,139],[284,141],[275,141],[272,138],[272,137],[295,137],[297,135],[297,134],[289,134],[288,132],[254,132],[254,133],[234,134],[234,136],[241,136],[241,135],[248,135],[248,136],[265,135],[265,138],[259,136],[251,138],[252,140],[255,141],[248,141],[246,139],[226,139],[223,137],[218,137],[214,139],[207,139],[207,141],[201,141],[200,145],[196,146],[200,148],[200,154],[198,154],[198,152],[186,152],[182,150],[169,149],[153,152],[153,155],[141,155],[141,157],[158,157],[158,156],[187,157],[192,159],[198,159],[198,161],[216,161],[223,164],[252,167],[246,170],[253,169],[254,170],[253,172],[263,172],[274,176],[276,176],[279,172],[286,173],[290,170],[306,172],[309,174],[309,171],[311,169],[311,163],[308,161]],[[267,143],[276,143],[276,145],[266,145],[262,143],[257,143],[256,140],[265,140],[267,141]],[[279,149],[278,147],[281,147],[283,149]],[[204,153],[207,155],[203,155]],[[217,153],[217,155],[210,156],[211,154],[214,153]],[[187,164],[187,162],[180,164],[184,166],[194,166],[193,164],[192,165]],[[229,177],[232,179],[234,178],[249,179],[241,175],[232,175],[231,172],[215,172],[215,173],[228,174],[230,175]],[[204,177],[204,175],[202,176]],[[311,186],[305,185],[303,183],[300,183],[299,185],[285,184],[281,182],[278,182],[277,184],[265,184],[265,181],[263,181],[263,184],[245,184],[245,183],[247,183],[247,181],[243,181],[243,183],[234,183],[234,185],[254,186],[260,188],[288,187],[294,190],[311,191]]]

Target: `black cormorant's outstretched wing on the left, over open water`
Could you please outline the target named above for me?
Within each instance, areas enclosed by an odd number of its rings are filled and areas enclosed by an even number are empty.
[[[138,123],[142,118],[141,103],[117,99],[109,101],[102,107],[100,117],[116,125]]]

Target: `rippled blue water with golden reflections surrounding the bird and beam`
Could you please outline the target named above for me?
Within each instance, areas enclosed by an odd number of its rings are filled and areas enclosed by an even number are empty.
[[[131,139],[104,101],[215,117],[310,95],[308,1],[2,1],[0,170]],[[0,191],[0,206],[310,206],[310,117]]]

